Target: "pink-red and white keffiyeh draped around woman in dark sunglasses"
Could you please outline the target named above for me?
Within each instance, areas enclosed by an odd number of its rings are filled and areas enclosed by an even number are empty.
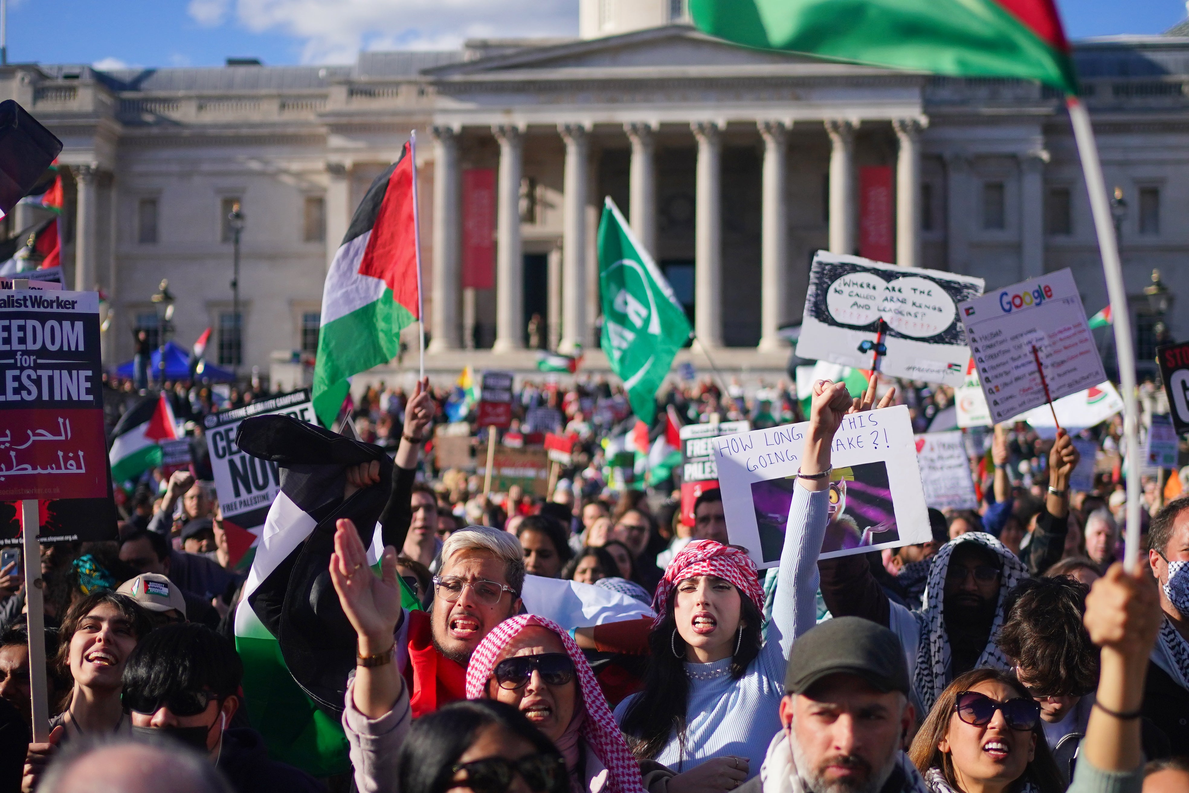
[[[606,766],[609,792],[643,793],[640,766],[631,756],[631,751],[628,750],[623,734],[619,732],[619,725],[611,716],[611,709],[608,707],[606,697],[603,696],[603,690],[599,688],[598,681],[594,679],[594,672],[591,671],[581,649],[570,637],[570,632],[552,619],[533,613],[522,613],[496,625],[471,654],[471,662],[466,667],[466,698],[485,699],[487,697],[487,681],[496,668],[499,654],[526,625],[540,625],[556,634],[566,648],[566,655],[574,662],[578,690],[583,694],[583,706],[586,709],[581,736],[594,756]]]

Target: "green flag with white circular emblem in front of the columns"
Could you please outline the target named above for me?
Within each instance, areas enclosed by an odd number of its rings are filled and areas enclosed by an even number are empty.
[[[603,296],[603,351],[623,378],[636,417],[653,422],[656,391],[690,321],[673,289],[610,196],[598,226],[598,282]]]

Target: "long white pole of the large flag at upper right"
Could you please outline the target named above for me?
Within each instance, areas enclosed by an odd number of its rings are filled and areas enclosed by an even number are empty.
[[[1127,533],[1124,567],[1134,572],[1139,561],[1139,408],[1135,399],[1135,351],[1132,347],[1131,314],[1127,309],[1127,289],[1122,282],[1122,264],[1119,259],[1119,240],[1115,239],[1111,206],[1107,203],[1107,185],[1102,176],[1102,162],[1094,139],[1094,126],[1086,106],[1076,96],[1067,96],[1069,120],[1074,125],[1074,139],[1082,158],[1086,189],[1090,196],[1090,212],[1102,253],[1102,271],[1107,279],[1111,298],[1112,323],[1115,336],[1115,359],[1119,363],[1119,390],[1122,391],[1124,442],[1131,458],[1127,472]]]

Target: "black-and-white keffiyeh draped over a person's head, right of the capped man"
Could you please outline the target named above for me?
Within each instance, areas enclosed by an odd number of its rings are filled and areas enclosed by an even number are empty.
[[[977,542],[990,548],[999,556],[1002,567],[995,619],[990,624],[987,647],[979,656],[975,668],[989,666],[1007,671],[1012,666],[995,646],[995,634],[1004,624],[1004,602],[1007,599],[1007,593],[1021,580],[1028,578],[1028,571],[1015,558],[1015,554],[995,537],[982,531],[969,531],[946,542],[933,556],[933,564],[929,568],[929,583],[925,585],[925,608],[913,612],[920,627],[920,640],[917,642],[917,671],[912,685],[926,713],[933,707],[933,703],[949,684],[950,638],[945,632],[945,572],[950,567],[954,550],[964,542]]]

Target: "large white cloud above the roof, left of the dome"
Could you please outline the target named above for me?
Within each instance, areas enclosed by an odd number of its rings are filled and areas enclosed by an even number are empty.
[[[227,2],[190,0],[190,15],[221,19]],[[467,38],[578,33],[577,0],[235,0],[235,18],[253,32],[300,39],[304,63],[352,63],[360,50],[454,49]]]

